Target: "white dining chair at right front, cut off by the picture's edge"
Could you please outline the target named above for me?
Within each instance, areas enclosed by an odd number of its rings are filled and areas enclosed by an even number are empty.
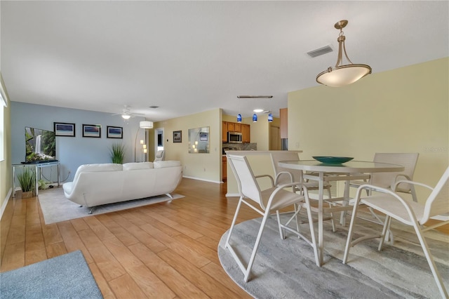
[[[405,225],[410,225],[414,227],[417,238],[420,241],[422,251],[424,251],[427,263],[429,263],[429,267],[438,286],[438,290],[440,291],[443,298],[448,298],[448,292],[446,291],[445,286],[443,284],[443,280],[441,279],[441,275],[439,274],[438,269],[436,268],[434,258],[431,255],[426,239],[424,239],[424,235],[422,234],[427,230],[431,230],[435,227],[449,223],[449,220],[446,220],[438,222],[436,225],[429,225],[427,227],[424,227],[424,225],[426,225],[426,223],[431,217],[434,217],[436,215],[442,215],[444,213],[449,213],[448,181],[449,181],[449,167],[445,170],[445,172],[441,176],[441,179],[438,181],[436,187],[434,188],[410,180],[403,180],[396,182],[392,190],[377,187],[375,185],[361,185],[360,187],[358,187],[358,190],[356,192],[356,201],[354,203],[354,209],[352,211],[351,225],[349,225],[346,247],[344,248],[343,263],[344,264],[347,263],[349,249],[352,246],[356,245],[358,242],[366,239],[373,239],[380,237],[380,244],[378,250],[381,251],[384,241],[386,241],[387,230],[391,225],[391,218],[394,218]],[[427,197],[425,204],[420,204],[418,202],[410,201],[400,197],[394,190],[396,189],[397,185],[401,184],[401,182],[408,183],[410,185],[427,187],[429,188],[429,190],[432,190],[429,197]],[[370,189],[375,190],[376,192],[379,193],[362,198],[361,197],[362,190],[370,190]],[[383,223],[383,230],[381,234],[363,236],[352,241],[356,216],[358,208],[360,208],[359,204],[365,204],[366,206],[373,208],[375,211],[380,211],[381,213],[384,213],[385,220]]]

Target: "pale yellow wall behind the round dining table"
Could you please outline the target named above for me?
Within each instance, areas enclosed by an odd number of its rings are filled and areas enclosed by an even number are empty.
[[[448,69],[443,58],[289,93],[289,150],[366,161],[375,152],[418,152],[414,180],[436,185],[449,160]]]

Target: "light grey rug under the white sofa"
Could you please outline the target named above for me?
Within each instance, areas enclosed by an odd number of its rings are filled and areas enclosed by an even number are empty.
[[[172,193],[173,199],[180,199],[184,195]],[[95,208],[92,214],[89,214],[91,208],[75,204],[69,201],[64,196],[62,188],[54,188],[39,191],[39,203],[43,213],[45,223],[51,224],[76,218],[83,218],[91,215],[98,215],[103,213],[110,213],[114,211],[121,211],[128,208],[135,208],[138,206],[147,206],[149,204],[157,204],[159,202],[170,201],[170,197],[163,194],[157,197],[147,197],[146,199],[136,199],[131,201],[123,201],[116,204],[105,204]]]

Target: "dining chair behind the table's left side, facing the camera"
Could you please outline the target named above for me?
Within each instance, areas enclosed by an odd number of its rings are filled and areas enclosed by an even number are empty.
[[[300,161],[300,157],[297,154],[297,152],[275,151],[270,152],[270,157],[272,159],[275,175],[274,185],[277,186],[292,182],[302,182],[302,187],[306,187],[308,191],[319,190],[319,182],[315,180],[313,181],[304,180],[304,178],[302,177],[302,171],[279,166],[279,161]],[[330,191],[330,187],[332,187],[332,185],[330,185],[328,182],[324,182],[324,189],[328,191],[328,199],[326,199],[326,201],[329,202],[329,206],[332,205],[331,204],[332,194]],[[304,189],[302,188],[298,189],[297,187],[293,186],[293,192],[303,192],[303,190]],[[301,207],[298,206],[297,208],[300,209]],[[330,213],[330,217],[325,218],[324,220],[330,220],[332,222],[332,230],[333,232],[335,232],[333,213]]]

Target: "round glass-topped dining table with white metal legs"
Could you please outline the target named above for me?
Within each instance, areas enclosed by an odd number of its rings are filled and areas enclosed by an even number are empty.
[[[279,161],[279,166],[284,168],[300,170],[304,179],[316,180],[319,182],[318,198],[318,246],[316,244],[315,234],[312,233],[311,243],[314,246],[316,265],[323,265],[323,214],[343,212],[340,223],[344,225],[345,212],[352,209],[349,206],[349,180],[363,180],[370,178],[370,173],[382,172],[401,172],[404,166],[397,164],[377,163],[373,161],[348,161],[343,164],[321,163],[316,160],[302,161]],[[323,205],[323,189],[325,182],[347,181],[344,187],[343,197],[333,198],[333,202],[341,200],[342,205],[325,208]],[[311,208],[309,206],[308,208]]]

